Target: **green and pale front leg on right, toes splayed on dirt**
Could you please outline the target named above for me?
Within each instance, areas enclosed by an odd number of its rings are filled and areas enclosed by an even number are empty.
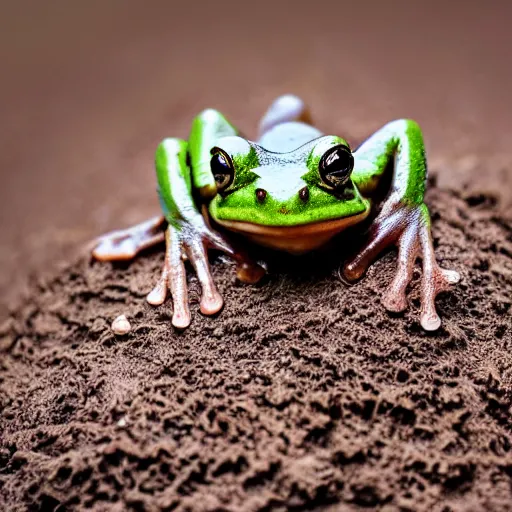
[[[436,262],[430,215],[423,200],[427,164],[421,130],[414,121],[393,121],[364,142],[354,159],[352,179],[363,195],[372,195],[393,159],[394,174],[389,195],[370,226],[368,240],[345,266],[345,275],[350,280],[358,279],[383,249],[397,245],[398,270],[383,303],[389,311],[399,312],[407,307],[406,288],[416,258],[421,257],[421,325],[425,330],[436,330],[441,325],[436,295],[458,282],[459,274],[442,269]]]

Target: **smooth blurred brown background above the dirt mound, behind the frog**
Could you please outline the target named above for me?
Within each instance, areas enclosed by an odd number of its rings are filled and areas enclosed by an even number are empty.
[[[442,186],[510,212],[510,2],[0,7],[0,315],[29,274],[157,211],[154,149],[207,106],[249,136],[285,92],[352,141],[415,118]]]

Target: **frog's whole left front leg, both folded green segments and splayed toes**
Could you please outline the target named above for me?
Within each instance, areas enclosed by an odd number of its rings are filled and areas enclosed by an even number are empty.
[[[174,303],[172,323],[184,328],[190,323],[187,279],[184,257],[192,263],[203,290],[201,312],[217,313],[223,305],[210,273],[207,249],[224,251],[237,262],[237,277],[244,282],[256,282],[265,273],[247,255],[234,248],[220,233],[213,231],[200,213],[200,204],[216,194],[216,182],[211,171],[211,149],[215,141],[234,135],[235,129],[215,110],[205,110],[192,125],[188,143],[180,139],[165,139],[156,152],[158,193],[168,222],[165,234],[166,255],[162,275],[148,302],[162,304],[171,291]],[[192,188],[199,192],[194,198]]]

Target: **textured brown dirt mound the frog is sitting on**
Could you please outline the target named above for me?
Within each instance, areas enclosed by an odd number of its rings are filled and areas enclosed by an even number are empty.
[[[0,333],[4,510],[510,510],[512,223],[486,196],[434,188],[437,254],[462,282],[443,327],[357,285],[339,258],[275,262],[258,286],[221,258],[226,306],[177,333],[145,294],[163,261],[80,260]],[[126,314],[130,334],[110,323]]]

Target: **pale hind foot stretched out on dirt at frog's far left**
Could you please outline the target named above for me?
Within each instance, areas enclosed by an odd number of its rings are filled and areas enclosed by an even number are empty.
[[[167,221],[157,215],[128,229],[112,231],[95,241],[92,255],[99,261],[122,261],[134,258],[140,251],[163,242]]]

